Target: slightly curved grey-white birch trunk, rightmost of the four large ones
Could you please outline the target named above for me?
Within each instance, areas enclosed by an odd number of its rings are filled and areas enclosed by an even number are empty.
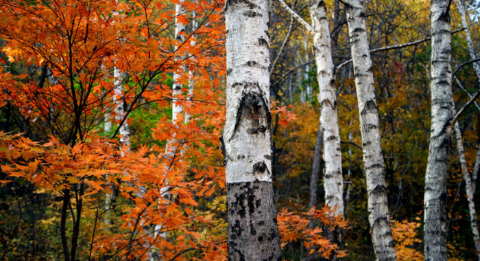
[[[450,1],[431,0],[431,134],[425,173],[424,258],[442,261],[446,250],[446,179],[453,133]]]

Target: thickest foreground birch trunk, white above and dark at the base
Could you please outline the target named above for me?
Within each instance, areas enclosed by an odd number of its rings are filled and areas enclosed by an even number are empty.
[[[228,260],[281,260],[272,185],[268,0],[228,0],[225,10]]]

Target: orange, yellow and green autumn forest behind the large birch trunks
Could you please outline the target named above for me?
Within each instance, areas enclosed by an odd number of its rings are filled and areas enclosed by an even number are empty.
[[[310,22],[307,1],[285,4]],[[309,211],[313,159],[322,150],[313,36],[281,1],[269,5],[272,174],[283,258],[337,251],[322,229],[339,225],[344,259],[373,260],[344,4],[326,1],[348,225],[322,209],[322,178],[313,194],[320,211]],[[396,255],[418,260],[431,121],[430,4],[363,5]],[[226,259],[223,8],[209,0],[2,1],[1,259]],[[478,1],[451,3],[457,111],[479,88],[479,8]],[[458,120],[474,202],[479,116],[475,103]],[[453,148],[448,257],[473,260],[461,152]]]

